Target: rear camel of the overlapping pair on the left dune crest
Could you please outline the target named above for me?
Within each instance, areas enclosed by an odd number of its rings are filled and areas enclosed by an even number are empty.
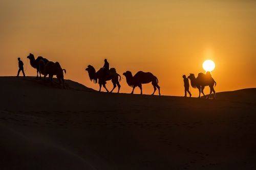
[[[59,84],[63,84],[63,88],[65,88],[65,80],[64,80],[64,75],[63,71],[65,74],[67,73],[66,69],[62,69],[59,62],[52,62],[49,61],[47,64],[43,60],[39,61],[39,71],[42,75],[44,75],[44,79],[46,79],[46,76],[49,75],[49,79],[51,81],[51,84],[53,82],[52,78],[54,75],[56,75]]]

